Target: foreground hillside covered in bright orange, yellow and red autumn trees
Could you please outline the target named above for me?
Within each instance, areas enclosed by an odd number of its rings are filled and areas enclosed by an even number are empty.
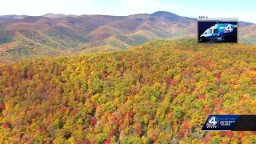
[[[3,143],[255,143],[200,132],[209,114],[255,106],[256,46],[156,41],[0,66]]]

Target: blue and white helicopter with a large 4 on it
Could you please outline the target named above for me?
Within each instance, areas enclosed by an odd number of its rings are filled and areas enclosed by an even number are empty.
[[[230,23],[216,23],[200,35],[199,42],[224,42],[224,37],[232,33],[237,27],[238,25]]]

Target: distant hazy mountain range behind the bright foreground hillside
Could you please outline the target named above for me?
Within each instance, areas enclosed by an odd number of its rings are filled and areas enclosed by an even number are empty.
[[[253,23],[239,23],[239,42],[255,44]],[[130,16],[0,16],[0,57],[18,61],[62,54],[127,50],[155,39],[195,38],[195,18],[165,11]]]

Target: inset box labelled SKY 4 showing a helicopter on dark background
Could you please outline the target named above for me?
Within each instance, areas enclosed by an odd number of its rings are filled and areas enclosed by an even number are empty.
[[[238,17],[198,16],[198,43],[238,43]]]

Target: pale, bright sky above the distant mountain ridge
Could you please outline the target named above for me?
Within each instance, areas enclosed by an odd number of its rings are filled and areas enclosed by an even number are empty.
[[[256,23],[255,0],[2,0],[1,5],[0,15],[130,15],[168,11],[190,18],[225,14]]]

